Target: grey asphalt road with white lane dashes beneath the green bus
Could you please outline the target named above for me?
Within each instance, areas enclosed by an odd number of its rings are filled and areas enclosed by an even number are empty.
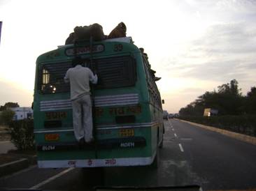
[[[201,185],[203,190],[256,188],[256,146],[176,120],[165,121],[159,168],[38,169],[0,178],[0,188],[91,190],[105,186]],[[104,182],[99,181],[104,174]]]

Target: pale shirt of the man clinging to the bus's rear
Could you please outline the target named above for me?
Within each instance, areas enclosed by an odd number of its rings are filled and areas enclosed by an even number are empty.
[[[97,84],[98,77],[90,68],[77,65],[66,71],[64,81],[70,82],[71,100],[76,100],[80,95],[90,94],[90,82]]]

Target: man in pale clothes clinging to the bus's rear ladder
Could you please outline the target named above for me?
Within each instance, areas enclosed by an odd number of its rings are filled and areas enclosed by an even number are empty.
[[[94,140],[90,82],[97,84],[98,77],[90,68],[81,66],[82,63],[83,59],[80,57],[73,59],[73,68],[67,70],[64,81],[70,82],[75,137],[79,144],[89,144]]]

